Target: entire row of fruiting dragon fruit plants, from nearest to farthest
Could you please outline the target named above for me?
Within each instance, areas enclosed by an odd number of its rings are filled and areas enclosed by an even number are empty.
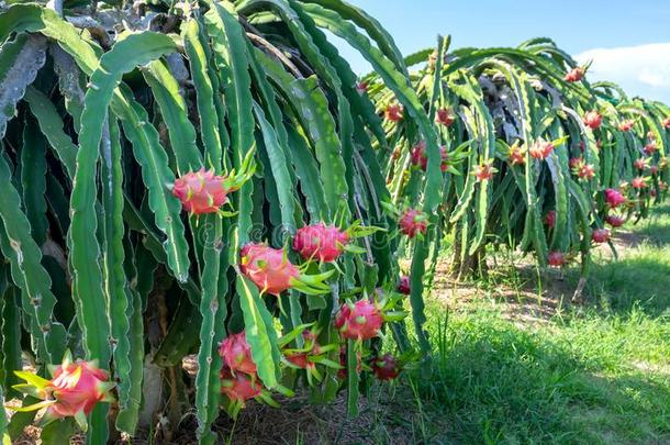
[[[504,244],[585,276],[667,189],[669,110],[546,40],[405,59],[338,0],[52,7],[0,14],[8,441],[40,411],[45,444],[158,413],[216,443],[221,409],[297,389],[355,415],[429,359],[446,234],[461,268]]]

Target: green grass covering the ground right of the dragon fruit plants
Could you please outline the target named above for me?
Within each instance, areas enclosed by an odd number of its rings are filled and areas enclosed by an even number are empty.
[[[413,435],[425,443],[670,443],[670,208],[626,237],[644,240],[617,263],[599,259],[588,304],[545,322],[511,320],[487,291],[448,319],[432,301],[436,359],[432,371],[412,376],[413,400],[399,402],[414,412],[406,415]],[[495,279],[523,285],[515,274]]]

